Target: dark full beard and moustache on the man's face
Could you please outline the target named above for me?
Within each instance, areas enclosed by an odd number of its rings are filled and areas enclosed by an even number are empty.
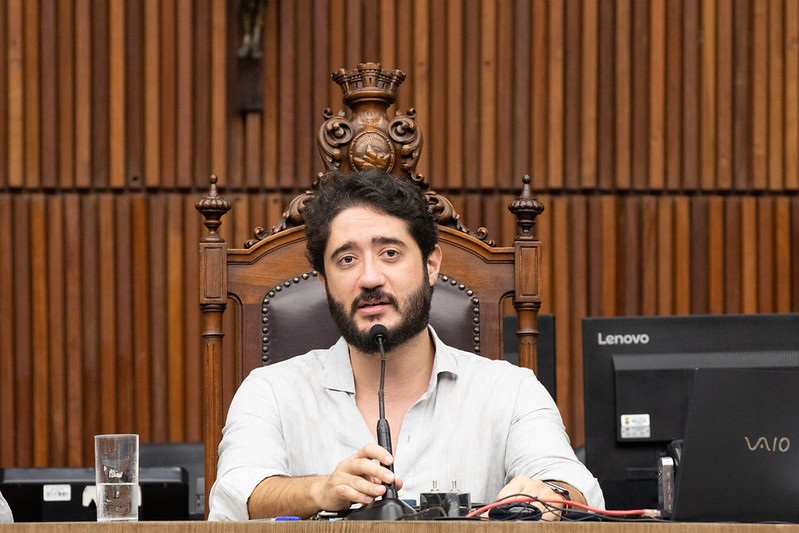
[[[388,301],[391,306],[400,313],[402,320],[397,326],[388,330],[387,338],[383,343],[383,349],[389,352],[393,348],[413,338],[427,327],[427,323],[430,320],[430,303],[433,300],[433,286],[428,284],[427,274],[425,272],[422,277],[422,283],[408,296],[404,309],[400,309],[400,305],[394,296],[379,288],[363,291],[361,295],[353,301],[349,310],[347,310],[342,302],[333,298],[329,291],[327,292],[327,303],[330,307],[330,314],[333,317],[333,321],[336,323],[339,333],[341,333],[341,336],[347,341],[347,344],[360,352],[377,354],[380,352],[377,344],[372,340],[369,330],[359,330],[353,318],[358,311],[358,303],[361,300]],[[376,318],[373,322],[374,324],[380,323]]]

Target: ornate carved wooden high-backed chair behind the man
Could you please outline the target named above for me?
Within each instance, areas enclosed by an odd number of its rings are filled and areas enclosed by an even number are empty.
[[[521,194],[509,206],[517,219],[513,246],[495,246],[485,228],[466,228],[452,204],[416,172],[422,134],[415,113],[388,117],[404,78],[373,63],[333,75],[347,113],[325,110],[318,137],[325,169],[380,166],[418,185],[437,216],[443,249],[431,324],[451,345],[501,358],[503,301],[511,298],[518,315],[519,364],[535,370],[541,244],[533,226],[543,206],[525,176]],[[305,257],[303,207],[313,189],[297,196],[271,230],[256,228],[243,248],[228,248],[217,229],[230,204],[216,183],[212,176],[208,196],[197,203],[208,230],[199,256],[207,489],[216,478],[227,407],[244,377],[260,365],[326,348],[338,338]]]

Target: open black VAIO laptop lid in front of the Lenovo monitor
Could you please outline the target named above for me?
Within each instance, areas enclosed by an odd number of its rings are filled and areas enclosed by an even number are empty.
[[[799,372],[697,369],[671,518],[799,523]]]

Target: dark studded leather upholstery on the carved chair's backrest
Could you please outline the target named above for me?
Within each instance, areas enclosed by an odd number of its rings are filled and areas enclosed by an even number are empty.
[[[438,276],[430,323],[444,342],[479,353],[477,303],[477,296],[468,287],[447,276]],[[327,348],[339,338],[315,272],[286,280],[271,289],[264,298],[262,324],[264,364],[282,361],[314,348]],[[298,331],[303,333],[298,335]]]

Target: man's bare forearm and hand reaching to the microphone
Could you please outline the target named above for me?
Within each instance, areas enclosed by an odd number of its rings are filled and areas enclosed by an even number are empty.
[[[272,476],[261,481],[247,501],[250,519],[275,516],[308,518],[319,511],[340,511],[354,503],[371,503],[386,492],[383,483],[396,482],[394,473],[382,466],[391,455],[375,443],[336,465],[329,476]]]

